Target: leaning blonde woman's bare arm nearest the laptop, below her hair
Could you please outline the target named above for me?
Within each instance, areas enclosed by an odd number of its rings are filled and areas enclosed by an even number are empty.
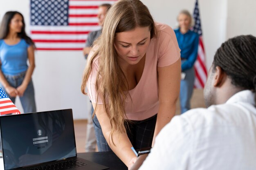
[[[92,104],[94,109],[96,104]],[[103,105],[97,105],[97,110],[96,110],[96,116],[99,120],[99,123],[101,125],[101,129],[103,132],[103,135],[108,142],[108,145],[112,149],[113,152],[123,161],[126,166],[129,167],[129,163],[132,160],[132,158],[136,157],[135,153],[132,152],[132,144],[126,134],[126,132],[120,133],[120,132],[115,132],[113,134],[113,141],[115,143],[112,143],[112,138],[110,136],[111,132],[111,124],[110,124],[110,119],[108,118],[108,115],[106,114],[106,111],[103,108]]]

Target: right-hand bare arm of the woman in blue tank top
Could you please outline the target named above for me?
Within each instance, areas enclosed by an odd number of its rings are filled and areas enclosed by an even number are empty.
[[[31,76],[33,74],[35,66],[35,57],[34,57],[34,47],[31,45],[27,49],[27,55],[29,59],[29,67],[27,68],[27,72],[25,75],[25,78],[20,86],[17,87],[18,95],[23,96],[23,93],[27,89],[27,85],[29,84],[31,80]]]

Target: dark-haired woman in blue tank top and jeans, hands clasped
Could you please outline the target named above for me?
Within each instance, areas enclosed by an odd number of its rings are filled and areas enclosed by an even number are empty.
[[[34,49],[34,42],[25,33],[22,14],[5,13],[0,26],[0,86],[13,103],[20,97],[24,113],[36,112],[31,79],[35,68]]]

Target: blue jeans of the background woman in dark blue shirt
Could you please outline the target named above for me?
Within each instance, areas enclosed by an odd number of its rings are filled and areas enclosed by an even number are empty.
[[[186,60],[182,60],[182,63]],[[195,71],[194,67],[182,71],[186,76],[180,82],[180,112],[181,114],[190,109],[190,99],[193,94]]]

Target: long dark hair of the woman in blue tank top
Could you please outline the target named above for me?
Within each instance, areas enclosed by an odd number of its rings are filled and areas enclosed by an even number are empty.
[[[8,11],[4,14],[4,17],[2,18],[2,23],[0,25],[0,39],[4,39],[7,38],[9,32],[10,32],[10,28],[9,28],[9,24],[11,22],[11,19],[14,17],[14,15],[19,14],[22,17],[22,29],[21,32],[18,33],[18,37],[24,39],[27,44],[29,45],[33,45],[35,47],[34,42],[31,40],[31,38],[29,36],[27,36],[26,32],[25,32],[25,22],[24,22],[24,17],[23,15],[18,12],[18,11]]]

